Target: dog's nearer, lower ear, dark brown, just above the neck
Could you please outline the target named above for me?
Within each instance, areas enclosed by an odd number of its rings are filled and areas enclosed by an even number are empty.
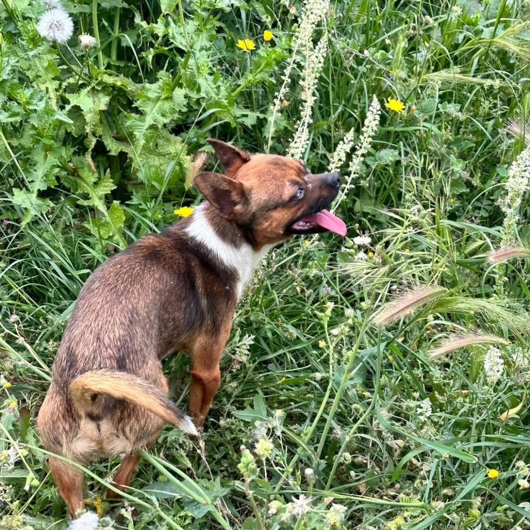
[[[235,218],[248,202],[244,185],[222,173],[199,173],[193,184],[227,219]]]

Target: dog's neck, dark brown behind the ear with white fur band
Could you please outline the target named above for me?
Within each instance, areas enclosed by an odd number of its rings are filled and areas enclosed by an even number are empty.
[[[274,245],[254,247],[243,229],[224,218],[208,202],[193,212],[185,232],[203,244],[216,259],[237,275],[237,298],[252,278],[254,269]]]

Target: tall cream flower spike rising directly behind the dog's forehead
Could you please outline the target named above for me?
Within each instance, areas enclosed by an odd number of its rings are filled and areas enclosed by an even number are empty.
[[[301,158],[309,141],[309,125],[313,114],[313,105],[316,100],[315,91],[319,75],[328,54],[328,38],[324,35],[319,43],[308,50],[304,80],[302,82],[302,117],[296,125],[296,132],[289,144],[287,155],[292,158]]]

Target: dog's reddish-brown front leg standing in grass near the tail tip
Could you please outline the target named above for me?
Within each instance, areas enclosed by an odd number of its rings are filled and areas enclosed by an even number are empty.
[[[191,349],[191,390],[189,411],[197,427],[202,427],[215,393],[221,383],[219,361],[225,349],[229,330],[213,341],[200,338]],[[226,335],[226,339],[225,339]]]

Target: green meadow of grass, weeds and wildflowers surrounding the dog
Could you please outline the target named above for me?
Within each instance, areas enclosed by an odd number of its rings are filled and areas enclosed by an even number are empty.
[[[70,525],[36,429],[61,334],[91,271],[199,204],[209,137],[339,170],[348,236],[262,262],[202,436],[167,426],[123,503],[118,461],[86,471],[100,528],[530,528],[528,20],[1,0],[0,528]],[[188,358],[164,370],[185,409]]]

